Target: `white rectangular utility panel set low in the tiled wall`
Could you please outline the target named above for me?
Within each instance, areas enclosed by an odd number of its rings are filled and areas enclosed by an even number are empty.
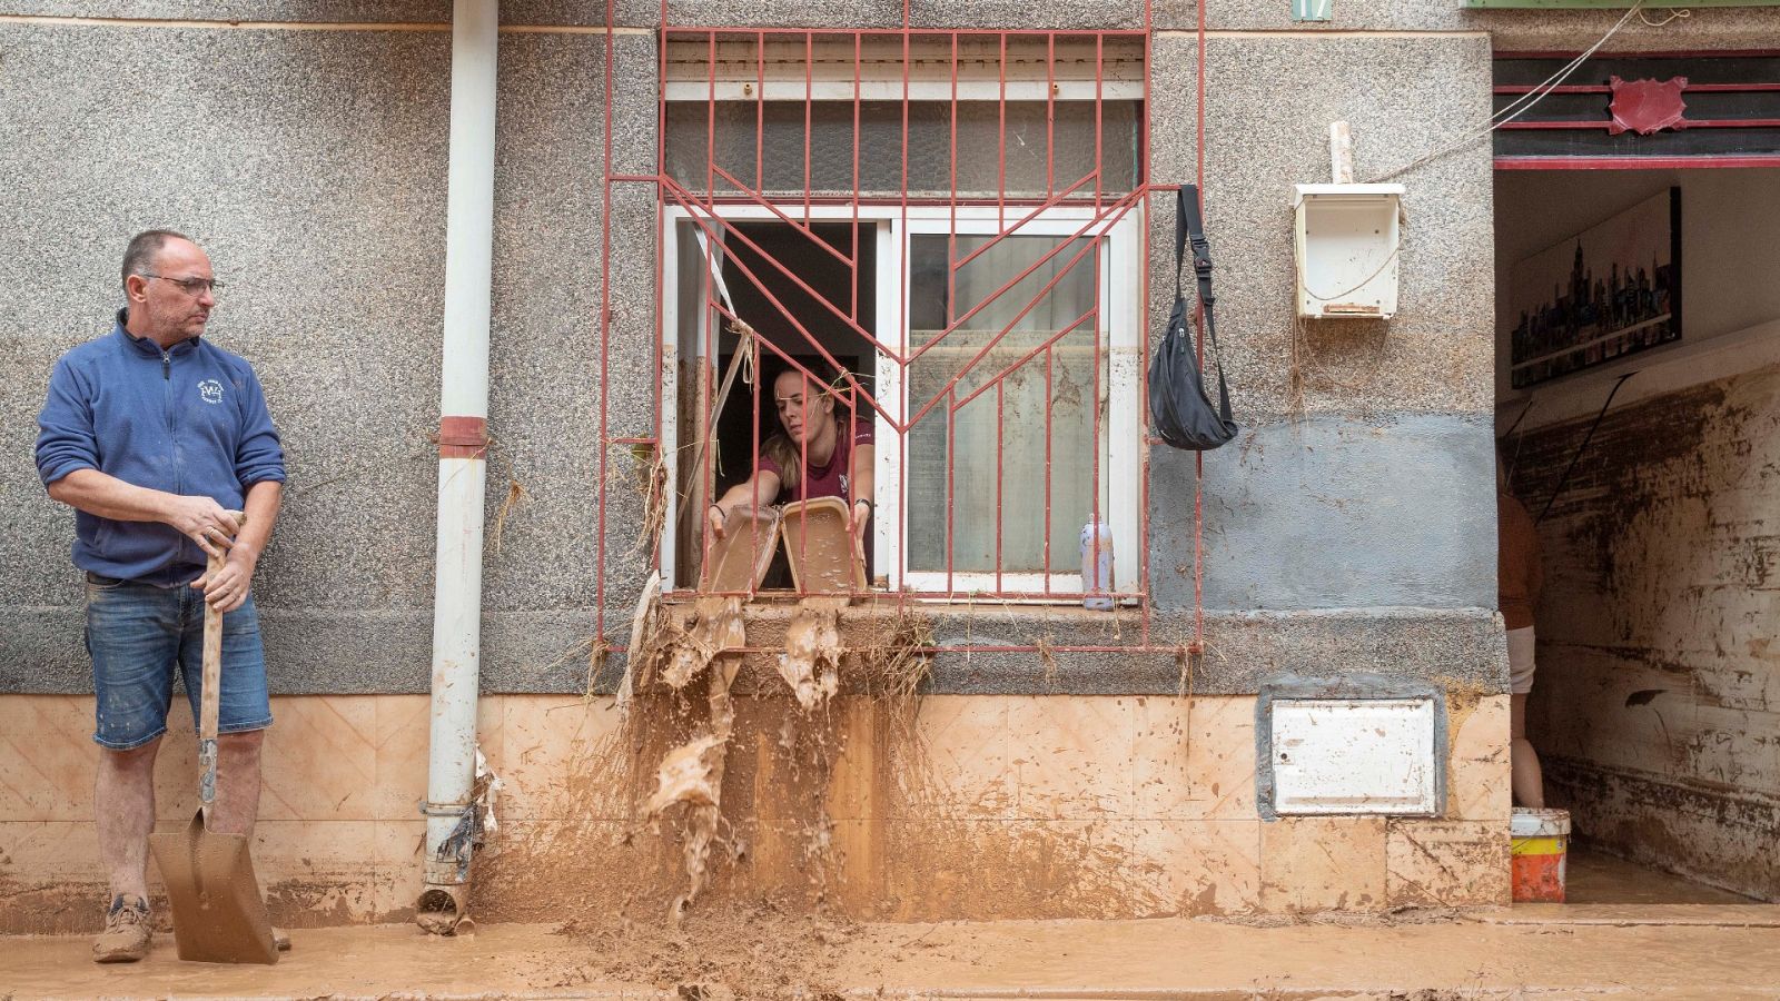
[[[1278,814],[1438,812],[1433,698],[1273,700]]]

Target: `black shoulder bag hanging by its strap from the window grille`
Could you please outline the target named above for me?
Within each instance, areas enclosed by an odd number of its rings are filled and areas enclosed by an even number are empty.
[[[1200,376],[1191,333],[1193,306],[1187,305],[1180,287],[1187,242],[1193,244],[1193,273],[1200,283],[1200,303],[1205,306],[1205,335],[1210,337],[1212,363],[1218,365],[1216,410]],[[1194,452],[1216,449],[1237,431],[1235,420],[1230,419],[1230,387],[1225,385],[1223,362],[1218,358],[1218,328],[1212,324],[1210,251],[1200,221],[1200,191],[1184,183],[1175,199],[1175,312],[1168,317],[1168,335],[1150,360],[1150,417],[1162,442]]]

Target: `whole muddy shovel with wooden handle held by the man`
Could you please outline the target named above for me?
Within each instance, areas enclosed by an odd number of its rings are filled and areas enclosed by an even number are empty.
[[[231,511],[235,522],[246,518]],[[210,557],[208,574],[222,568]],[[247,835],[210,830],[217,796],[217,707],[222,695],[222,613],[205,604],[205,670],[198,702],[198,814],[180,832],[148,842],[167,883],[173,940],[182,960],[205,964],[276,964],[272,921],[253,875]]]

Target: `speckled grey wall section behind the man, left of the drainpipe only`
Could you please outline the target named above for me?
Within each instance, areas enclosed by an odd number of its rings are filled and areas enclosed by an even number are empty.
[[[73,525],[30,444],[55,356],[110,326],[119,248],[150,226],[192,233],[233,285],[210,333],[256,363],[285,436],[290,502],[256,582],[276,677],[351,684],[372,661],[418,684],[449,36],[25,21],[0,46],[32,80],[0,116],[7,688],[91,686]],[[144,69],[98,71],[126,64]]]

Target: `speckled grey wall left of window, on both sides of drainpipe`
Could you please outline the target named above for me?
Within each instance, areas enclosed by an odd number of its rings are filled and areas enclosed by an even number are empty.
[[[230,280],[210,335],[255,362],[285,436],[288,500],[256,581],[274,689],[425,689],[449,45],[406,28],[0,23],[7,71],[34,82],[0,121],[0,689],[91,686],[71,518],[34,483],[30,444],[55,356],[109,328],[123,240],[148,226],[192,233]],[[158,71],[94,71],[144,52]],[[655,66],[648,34],[619,52]],[[488,554],[495,691],[586,684],[584,661],[557,661],[593,634],[598,602],[600,390],[648,381],[637,351],[602,381],[603,59],[603,34],[502,37],[488,511],[509,481],[525,500]],[[653,87],[623,89],[616,110],[614,169],[651,169]],[[635,235],[653,217],[632,189],[611,221]],[[651,260],[616,253],[612,289],[614,342],[646,342]],[[650,433],[648,397],[614,397],[605,422]],[[609,493],[605,600],[628,609],[639,502]]]

